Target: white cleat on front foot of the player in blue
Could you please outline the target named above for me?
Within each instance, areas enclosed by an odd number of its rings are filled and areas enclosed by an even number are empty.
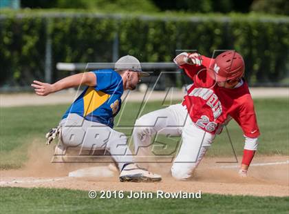
[[[160,182],[162,176],[151,173],[137,164],[128,164],[120,173],[120,182]]]

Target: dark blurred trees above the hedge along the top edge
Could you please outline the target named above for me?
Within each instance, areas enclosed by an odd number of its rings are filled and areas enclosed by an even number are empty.
[[[264,12],[289,14],[287,0],[22,0],[21,8],[82,8],[104,11]]]

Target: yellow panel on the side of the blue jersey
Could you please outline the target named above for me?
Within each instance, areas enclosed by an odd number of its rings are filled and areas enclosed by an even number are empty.
[[[89,115],[89,113],[92,113],[96,108],[103,105],[109,97],[110,95],[107,95],[100,90],[96,91],[92,87],[87,88],[87,91],[83,96],[83,117]]]

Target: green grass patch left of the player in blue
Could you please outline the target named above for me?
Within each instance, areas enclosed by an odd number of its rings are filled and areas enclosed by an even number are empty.
[[[28,144],[45,146],[45,133],[58,123],[67,106],[25,106],[0,109],[0,168],[19,168]]]

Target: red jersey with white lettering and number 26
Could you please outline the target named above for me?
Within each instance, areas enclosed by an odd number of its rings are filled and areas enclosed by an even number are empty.
[[[214,85],[214,80],[206,73],[206,68],[214,59],[204,56],[202,59],[202,66],[189,64],[180,66],[194,81],[182,101],[192,121],[205,131],[218,134],[233,118],[241,126],[246,137],[258,137],[260,133],[253,99],[246,82],[238,88]]]

